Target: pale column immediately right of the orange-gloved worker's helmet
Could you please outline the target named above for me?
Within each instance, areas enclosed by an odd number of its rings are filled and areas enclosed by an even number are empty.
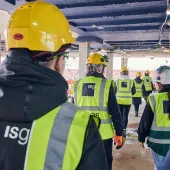
[[[106,68],[106,78],[112,80],[113,79],[113,53],[107,53],[109,58],[109,62],[107,63]]]

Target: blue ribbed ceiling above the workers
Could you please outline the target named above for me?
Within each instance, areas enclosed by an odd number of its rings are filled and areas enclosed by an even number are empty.
[[[1,0],[10,13],[24,0]],[[32,1],[32,0],[27,0]],[[167,0],[45,0],[67,16],[78,42],[93,42],[92,48],[143,50],[169,48],[170,27],[165,24]],[[12,5],[13,4],[13,5]],[[168,18],[169,19],[169,18]],[[78,44],[75,45],[75,48]]]

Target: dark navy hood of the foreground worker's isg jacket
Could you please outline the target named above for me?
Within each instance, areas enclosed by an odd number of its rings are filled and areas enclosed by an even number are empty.
[[[13,50],[0,65],[0,119],[32,121],[67,101],[61,74],[39,66],[27,50]]]

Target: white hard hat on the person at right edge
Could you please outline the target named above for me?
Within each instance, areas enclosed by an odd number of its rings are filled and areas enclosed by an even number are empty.
[[[163,85],[170,84],[170,67],[169,66],[161,66],[157,69],[156,81]]]

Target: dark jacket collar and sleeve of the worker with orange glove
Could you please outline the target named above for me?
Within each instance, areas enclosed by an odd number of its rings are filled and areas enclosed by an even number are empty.
[[[88,73],[86,76],[94,76],[94,77],[106,79],[102,74],[99,74],[97,72]],[[112,122],[116,130],[116,135],[121,136],[123,131],[122,117],[120,115],[120,111],[117,105],[117,100],[115,97],[114,88],[112,85],[110,86],[110,90],[109,90],[108,113],[112,116]]]

